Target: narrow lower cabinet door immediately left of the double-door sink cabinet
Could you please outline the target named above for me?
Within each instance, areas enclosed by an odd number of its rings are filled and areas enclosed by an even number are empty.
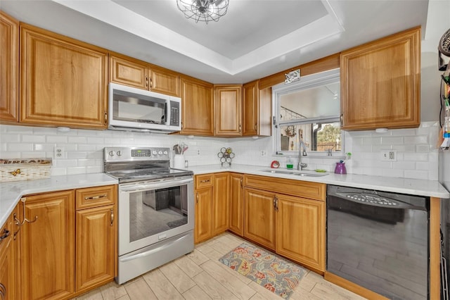
[[[244,234],[244,206],[243,206],[243,175],[231,173],[230,175],[230,226],[229,230],[240,235]]]

